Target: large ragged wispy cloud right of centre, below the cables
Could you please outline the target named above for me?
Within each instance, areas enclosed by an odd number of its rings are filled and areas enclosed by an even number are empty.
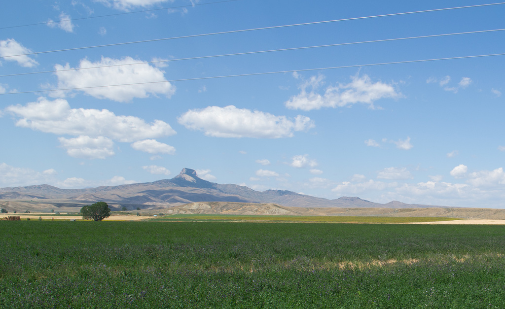
[[[299,78],[298,74],[294,74]],[[324,76],[312,76],[304,81],[298,88],[301,92],[292,96],[284,103],[286,108],[293,110],[319,110],[321,108],[337,108],[350,106],[356,103],[368,104],[374,108],[374,102],[381,98],[398,98],[401,93],[396,92],[392,84],[382,83],[380,81],[372,83],[368,75],[352,77],[348,84],[337,83],[335,86],[329,86],[323,94],[317,92],[323,84]]]

